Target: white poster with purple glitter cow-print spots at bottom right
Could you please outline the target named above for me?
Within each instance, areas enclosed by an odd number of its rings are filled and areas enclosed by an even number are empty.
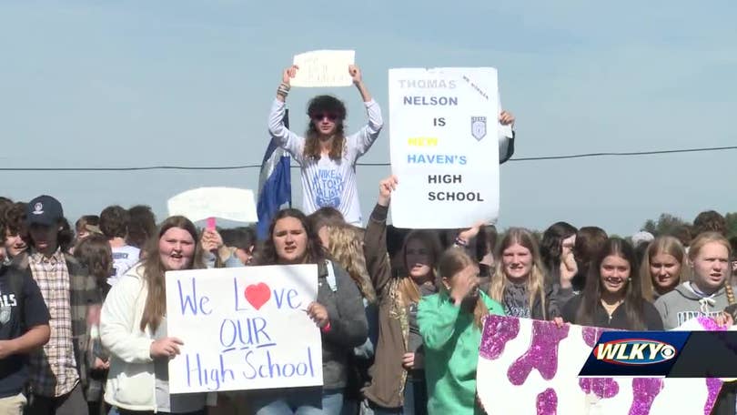
[[[494,413],[539,415],[711,413],[722,380],[579,379],[601,331],[490,316],[477,372],[481,403]]]

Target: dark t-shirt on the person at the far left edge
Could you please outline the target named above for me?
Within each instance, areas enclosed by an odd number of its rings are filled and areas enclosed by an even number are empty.
[[[0,266],[0,340],[17,339],[30,328],[48,324],[48,309],[34,278],[15,267]],[[0,398],[23,390],[28,356],[0,359]]]

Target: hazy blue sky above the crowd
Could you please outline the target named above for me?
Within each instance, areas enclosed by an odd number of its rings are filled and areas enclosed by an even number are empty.
[[[737,145],[737,3],[589,1],[0,2],[0,167],[258,164],[293,55],[355,49],[388,116],[387,71],[495,66],[518,118],[515,157]],[[293,90],[292,127],[309,97]],[[365,120],[358,92],[348,125]],[[737,211],[737,151],[510,162],[500,226],[557,220],[629,235],[670,212]],[[389,126],[361,162],[389,161]],[[364,215],[389,167],[358,167]],[[0,171],[2,192],[58,197],[66,215],[255,188],[257,169]],[[301,202],[298,170],[293,196]]]

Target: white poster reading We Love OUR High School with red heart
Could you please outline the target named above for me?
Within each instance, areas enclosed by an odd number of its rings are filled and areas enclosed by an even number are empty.
[[[169,390],[322,385],[319,329],[305,309],[316,265],[167,272],[167,334],[182,339]]]

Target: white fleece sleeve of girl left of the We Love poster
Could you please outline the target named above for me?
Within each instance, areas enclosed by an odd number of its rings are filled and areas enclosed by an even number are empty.
[[[107,294],[100,314],[103,347],[127,363],[151,361],[152,339],[132,334],[140,324],[136,319],[136,299],[141,292],[136,278],[121,278]]]

